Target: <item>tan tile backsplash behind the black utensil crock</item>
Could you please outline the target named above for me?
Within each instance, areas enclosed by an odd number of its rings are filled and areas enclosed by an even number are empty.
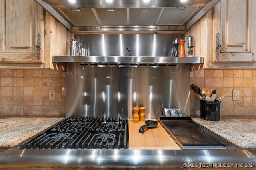
[[[221,117],[223,115],[256,116],[256,70],[196,70],[190,72],[190,84],[228,92],[221,100]],[[238,101],[232,100],[230,89],[239,90]],[[200,100],[193,90],[190,90],[190,115],[200,116]]]

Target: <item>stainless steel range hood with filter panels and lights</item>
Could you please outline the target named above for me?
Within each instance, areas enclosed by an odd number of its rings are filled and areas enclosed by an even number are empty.
[[[69,31],[183,31],[220,0],[35,0]]]

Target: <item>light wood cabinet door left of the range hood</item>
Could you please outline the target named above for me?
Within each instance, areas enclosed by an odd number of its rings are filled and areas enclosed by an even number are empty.
[[[42,63],[43,9],[34,0],[1,0],[0,9],[0,63]]]

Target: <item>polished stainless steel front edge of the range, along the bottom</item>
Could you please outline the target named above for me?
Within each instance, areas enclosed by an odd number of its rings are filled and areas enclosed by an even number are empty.
[[[247,150],[15,150],[0,154],[2,168],[238,168],[255,169]],[[254,164],[254,167],[253,167]],[[238,167],[239,166],[239,167]],[[251,166],[251,167],[250,167]]]

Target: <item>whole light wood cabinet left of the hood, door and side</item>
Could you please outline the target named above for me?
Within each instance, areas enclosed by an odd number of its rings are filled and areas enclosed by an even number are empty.
[[[0,68],[54,68],[68,31],[34,0],[1,0],[0,9]]]

